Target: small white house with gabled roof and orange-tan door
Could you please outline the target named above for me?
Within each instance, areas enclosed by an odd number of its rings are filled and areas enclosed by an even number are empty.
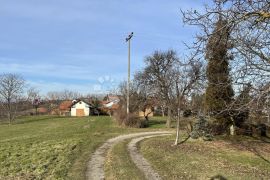
[[[91,105],[82,101],[76,100],[73,101],[72,106],[70,107],[71,116],[89,116],[90,115]]]

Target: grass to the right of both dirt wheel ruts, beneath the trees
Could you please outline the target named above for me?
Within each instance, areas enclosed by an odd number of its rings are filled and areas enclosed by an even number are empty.
[[[187,141],[171,146],[174,137],[143,141],[140,151],[163,179],[268,179],[270,144],[249,138],[238,143]],[[242,143],[240,143],[242,142]]]

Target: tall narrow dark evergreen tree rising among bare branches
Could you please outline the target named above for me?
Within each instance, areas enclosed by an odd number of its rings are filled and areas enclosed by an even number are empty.
[[[220,16],[206,45],[208,85],[205,94],[205,110],[219,125],[230,122],[227,107],[234,96],[229,75],[229,36],[230,27]]]

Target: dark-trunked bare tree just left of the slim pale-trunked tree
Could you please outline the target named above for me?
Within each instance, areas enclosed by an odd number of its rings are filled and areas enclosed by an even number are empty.
[[[145,58],[146,67],[141,72],[145,86],[151,87],[152,93],[160,102],[164,102],[168,109],[166,126],[171,127],[173,96],[175,86],[175,64],[179,62],[176,52],[156,51]]]

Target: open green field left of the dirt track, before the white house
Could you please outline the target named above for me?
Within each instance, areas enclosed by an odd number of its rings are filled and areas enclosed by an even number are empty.
[[[22,118],[0,125],[0,179],[84,179],[90,154],[105,140],[139,131],[110,117]]]

